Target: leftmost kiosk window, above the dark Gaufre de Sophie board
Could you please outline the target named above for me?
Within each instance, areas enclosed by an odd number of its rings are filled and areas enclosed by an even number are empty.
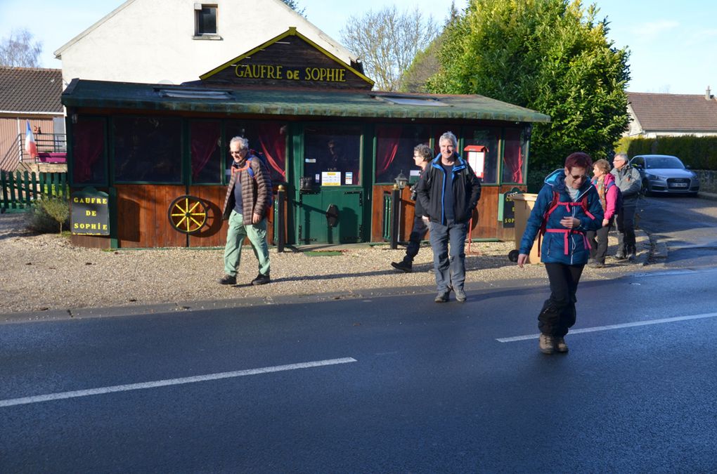
[[[80,115],[72,125],[72,184],[107,184],[106,122]]]

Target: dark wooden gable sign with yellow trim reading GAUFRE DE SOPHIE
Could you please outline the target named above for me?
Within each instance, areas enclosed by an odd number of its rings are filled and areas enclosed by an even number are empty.
[[[291,27],[202,74],[205,84],[371,90],[374,81]]]

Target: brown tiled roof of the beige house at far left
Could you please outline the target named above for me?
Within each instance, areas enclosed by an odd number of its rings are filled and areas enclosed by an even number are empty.
[[[62,113],[62,70],[0,66],[0,112]]]

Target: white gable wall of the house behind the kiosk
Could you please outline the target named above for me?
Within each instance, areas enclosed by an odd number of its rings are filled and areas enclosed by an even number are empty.
[[[296,26],[348,64],[351,53],[280,0],[206,1],[217,5],[217,34],[194,39],[194,0],[128,0],[58,49],[65,86],[75,77],[119,82],[199,79],[224,62]],[[199,2],[201,3],[201,2]]]

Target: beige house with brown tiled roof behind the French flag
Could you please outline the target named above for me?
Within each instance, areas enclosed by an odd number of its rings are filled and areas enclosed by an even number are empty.
[[[0,169],[37,170],[24,150],[27,121],[34,131],[40,160],[65,157],[62,71],[0,66]],[[52,157],[50,157],[52,154]]]

